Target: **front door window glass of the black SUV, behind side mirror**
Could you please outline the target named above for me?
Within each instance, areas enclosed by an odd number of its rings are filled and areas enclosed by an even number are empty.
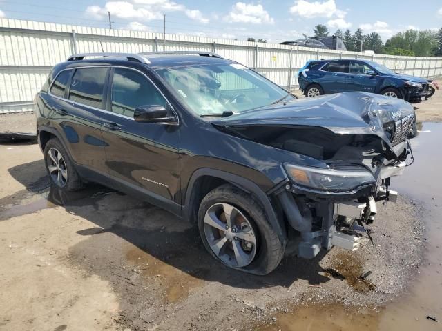
[[[135,108],[160,105],[168,109],[166,99],[143,74],[126,68],[115,68],[111,88],[112,112],[133,117]]]

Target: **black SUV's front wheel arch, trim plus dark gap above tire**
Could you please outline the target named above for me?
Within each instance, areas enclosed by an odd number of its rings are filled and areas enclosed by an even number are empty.
[[[282,243],[287,241],[287,227],[283,217],[281,217],[282,212],[278,210],[278,208],[280,208],[278,204],[273,203],[274,201],[271,201],[271,197],[267,196],[256,183],[222,170],[200,168],[192,174],[187,186],[183,206],[182,214],[184,219],[191,222],[194,221],[197,218],[200,203],[206,194],[225,183],[234,185],[240,188],[240,190],[252,194],[264,208],[269,224],[276,234],[278,234],[280,241]],[[277,210],[273,208],[272,204],[277,206]]]

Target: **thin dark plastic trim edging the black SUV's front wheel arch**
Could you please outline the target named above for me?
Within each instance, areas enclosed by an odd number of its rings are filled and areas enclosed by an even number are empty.
[[[282,243],[285,243],[287,241],[287,230],[285,228],[285,225],[282,219],[278,219],[278,217],[276,216],[276,212],[273,209],[271,201],[267,194],[265,194],[265,192],[262,191],[258,187],[258,185],[256,185],[256,183],[253,183],[253,181],[249,181],[249,179],[245,179],[244,177],[240,177],[236,174],[231,174],[230,172],[224,172],[222,170],[200,168],[193,172],[186,190],[186,200],[183,206],[184,219],[189,220],[191,218],[189,206],[192,199],[193,186],[195,185],[197,179],[202,176],[211,176],[224,179],[225,181],[228,181],[232,185],[236,185],[238,188],[244,190],[247,193],[253,193],[264,207],[269,224],[276,232],[276,234],[278,234],[278,238],[280,239],[280,241]]]

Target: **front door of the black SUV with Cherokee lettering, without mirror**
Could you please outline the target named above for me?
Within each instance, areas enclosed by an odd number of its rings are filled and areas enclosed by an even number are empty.
[[[102,128],[108,172],[124,188],[151,197],[155,204],[179,208],[180,127],[136,122],[135,108],[148,105],[164,106],[173,113],[146,74],[133,68],[113,68]]]

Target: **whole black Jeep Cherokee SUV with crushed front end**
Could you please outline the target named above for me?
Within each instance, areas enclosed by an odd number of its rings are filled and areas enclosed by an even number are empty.
[[[231,268],[268,274],[288,243],[312,258],[356,250],[376,201],[396,199],[410,103],[365,92],[296,99],[203,52],[77,54],[35,99],[60,190],[88,181],[198,223]]]

